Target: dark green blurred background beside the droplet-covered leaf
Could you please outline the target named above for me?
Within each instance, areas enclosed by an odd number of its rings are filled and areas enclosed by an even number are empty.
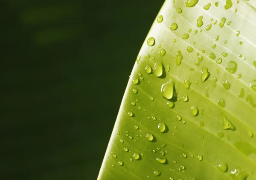
[[[164,0],[0,2],[0,180],[94,180]]]

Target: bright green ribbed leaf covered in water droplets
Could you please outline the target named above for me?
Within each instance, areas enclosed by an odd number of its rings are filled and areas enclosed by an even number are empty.
[[[99,180],[256,180],[256,2],[167,0]]]

